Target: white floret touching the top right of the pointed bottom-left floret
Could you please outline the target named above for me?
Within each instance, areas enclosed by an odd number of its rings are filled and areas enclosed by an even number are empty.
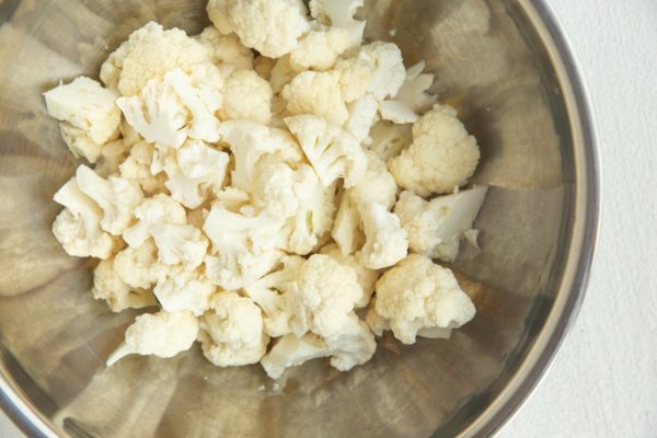
[[[160,277],[153,288],[155,298],[168,312],[188,310],[200,316],[210,308],[210,299],[217,291],[204,275],[176,266]]]

